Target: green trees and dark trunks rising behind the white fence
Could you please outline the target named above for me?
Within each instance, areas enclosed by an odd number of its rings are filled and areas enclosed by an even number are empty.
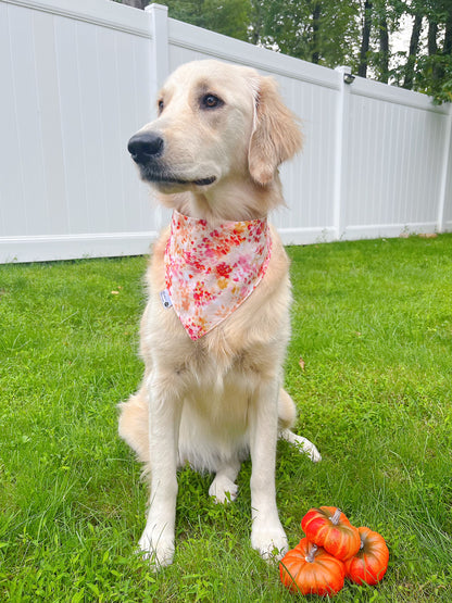
[[[355,74],[431,95],[437,103],[452,98],[451,0],[162,3],[168,7],[171,17],[205,29],[327,67],[349,65]],[[409,17],[405,25],[412,22],[411,39],[405,41],[406,48],[395,51],[391,38],[404,17]]]

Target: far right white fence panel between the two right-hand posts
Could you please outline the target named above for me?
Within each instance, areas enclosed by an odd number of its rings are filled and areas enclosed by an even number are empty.
[[[346,237],[434,231],[447,110],[367,80],[350,88]]]

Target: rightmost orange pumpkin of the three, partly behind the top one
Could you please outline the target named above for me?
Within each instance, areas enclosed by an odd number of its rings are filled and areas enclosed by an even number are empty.
[[[376,585],[388,569],[389,551],[385,539],[369,528],[357,528],[361,538],[359,552],[346,562],[347,577],[353,582]]]

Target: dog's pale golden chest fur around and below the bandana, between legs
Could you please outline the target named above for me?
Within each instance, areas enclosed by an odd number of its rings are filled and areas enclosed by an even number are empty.
[[[289,337],[288,262],[275,239],[267,274],[253,294],[224,323],[192,341],[159,296],[165,284],[167,237],[165,233],[155,243],[149,267],[141,354],[148,366],[158,367],[165,387],[181,392],[179,462],[216,470],[222,458],[247,455],[249,405],[262,384],[281,377]]]

